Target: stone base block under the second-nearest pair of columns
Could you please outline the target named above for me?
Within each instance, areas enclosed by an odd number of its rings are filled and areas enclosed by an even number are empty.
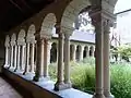
[[[72,85],[71,84],[64,84],[64,83],[56,83],[55,84],[55,90],[63,90],[63,89],[68,89],[68,88],[71,88]]]

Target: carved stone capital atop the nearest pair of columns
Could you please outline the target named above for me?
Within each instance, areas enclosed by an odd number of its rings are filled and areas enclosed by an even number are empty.
[[[94,8],[88,14],[92,19],[92,24],[96,29],[103,26],[104,29],[109,30],[109,27],[114,26],[116,15],[103,10],[102,7]]]

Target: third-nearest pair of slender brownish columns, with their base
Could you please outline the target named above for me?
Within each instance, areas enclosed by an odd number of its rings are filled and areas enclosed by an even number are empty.
[[[36,73],[34,81],[38,82],[48,77],[48,61],[47,61],[48,40],[43,38],[37,39],[37,56],[36,56]]]

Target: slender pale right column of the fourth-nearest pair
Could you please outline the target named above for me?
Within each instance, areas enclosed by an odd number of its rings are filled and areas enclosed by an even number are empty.
[[[35,44],[31,44],[31,73],[35,73],[34,71],[34,53],[35,53]]]

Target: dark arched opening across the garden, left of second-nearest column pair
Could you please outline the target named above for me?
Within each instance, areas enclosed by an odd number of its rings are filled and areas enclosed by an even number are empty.
[[[57,62],[57,44],[52,42],[51,49],[50,49],[50,63]]]

